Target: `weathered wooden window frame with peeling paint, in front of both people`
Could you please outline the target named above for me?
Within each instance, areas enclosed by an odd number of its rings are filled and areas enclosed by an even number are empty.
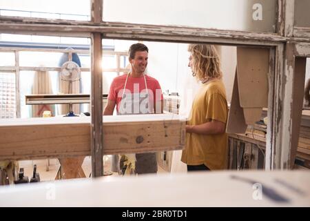
[[[91,0],[91,21],[65,21],[23,17],[0,17],[0,32],[23,35],[57,35],[90,37],[92,39],[92,169],[93,176],[103,175],[102,166],[102,81],[101,67],[97,60],[102,57],[101,39],[127,39],[144,41],[167,41],[180,43],[207,43],[228,46],[263,46],[270,48],[267,144],[265,169],[284,169],[288,164],[293,131],[290,113],[293,82],[287,81],[285,49],[287,42],[309,44],[307,35],[296,35],[298,28],[291,26],[293,8],[291,0],[278,0],[276,33],[212,30],[180,26],[156,26],[134,23],[102,21],[103,0]],[[295,31],[295,35],[293,35]],[[299,32],[298,32],[299,33]],[[287,153],[278,157],[279,151]]]

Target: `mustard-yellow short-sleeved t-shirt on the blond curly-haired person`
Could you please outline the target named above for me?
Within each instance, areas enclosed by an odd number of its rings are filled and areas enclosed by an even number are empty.
[[[187,124],[197,125],[212,119],[227,123],[227,100],[223,81],[203,84],[194,98]],[[181,161],[187,165],[205,164],[210,170],[227,169],[227,133],[198,135],[186,133]]]

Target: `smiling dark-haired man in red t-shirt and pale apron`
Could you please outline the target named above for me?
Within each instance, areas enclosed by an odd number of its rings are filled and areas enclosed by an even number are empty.
[[[103,115],[113,115],[115,106],[118,115],[163,113],[161,86],[156,79],[145,75],[148,52],[144,44],[130,46],[128,53],[132,70],[112,81]],[[156,173],[156,153],[136,154],[135,167],[138,174]]]

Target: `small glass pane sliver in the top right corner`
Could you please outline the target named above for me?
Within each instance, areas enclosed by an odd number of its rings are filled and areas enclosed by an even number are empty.
[[[309,8],[309,0],[295,0],[295,26],[310,28]]]

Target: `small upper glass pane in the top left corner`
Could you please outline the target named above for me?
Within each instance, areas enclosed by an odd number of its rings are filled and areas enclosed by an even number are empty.
[[[89,0],[0,1],[0,15],[90,21]]]

